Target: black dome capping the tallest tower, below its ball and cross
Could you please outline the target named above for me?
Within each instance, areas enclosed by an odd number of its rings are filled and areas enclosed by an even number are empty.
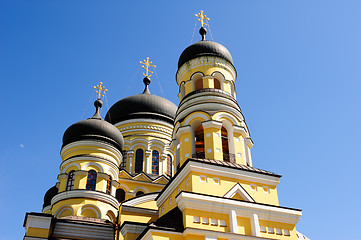
[[[220,57],[233,65],[232,56],[223,45],[212,41],[200,41],[184,49],[178,60],[178,69],[189,60],[203,56]]]

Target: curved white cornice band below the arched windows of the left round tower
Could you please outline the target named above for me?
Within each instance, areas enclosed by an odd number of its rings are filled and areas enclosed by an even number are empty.
[[[106,202],[113,207],[119,206],[118,200],[112,195],[92,190],[72,190],[58,193],[51,199],[51,205],[69,198],[88,198]]]

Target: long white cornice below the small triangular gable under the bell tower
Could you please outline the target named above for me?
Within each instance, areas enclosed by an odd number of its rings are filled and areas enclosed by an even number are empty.
[[[235,210],[237,216],[240,217],[251,218],[252,214],[257,214],[259,219],[289,224],[296,224],[302,215],[302,211],[297,209],[287,209],[189,192],[181,192],[177,196],[176,202],[181,211],[184,209],[210,211],[209,209],[212,209],[214,213],[229,214],[232,210]]]

